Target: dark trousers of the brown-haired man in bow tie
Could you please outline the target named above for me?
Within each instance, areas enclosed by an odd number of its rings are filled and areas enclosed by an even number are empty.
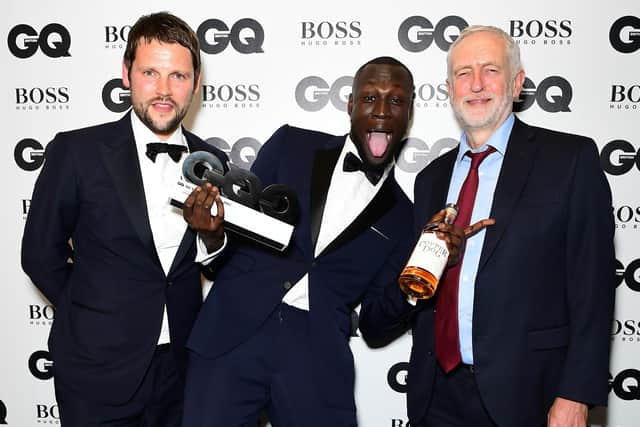
[[[86,400],[55,381],[62,427],[179,427],[184,383],[168,344],[159,346],[140,388],[122,405]]]

